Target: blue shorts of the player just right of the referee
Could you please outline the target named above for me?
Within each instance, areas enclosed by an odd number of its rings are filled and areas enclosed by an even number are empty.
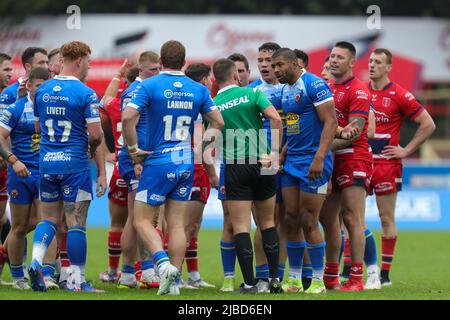
[[[322,178],[310,181],[307,175],[313,158],[314,155],[295,159],[287,158],[283,166],[282,187],[295,186],[302,192],[327,194],[328,182],[333,173],[333,160],[331,155],[327,155],[323,164]]]

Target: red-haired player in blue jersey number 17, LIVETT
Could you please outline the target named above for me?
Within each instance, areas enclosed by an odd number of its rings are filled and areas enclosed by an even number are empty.
[[[42,260],[64,208],[71,266],[67,287],[73,291],[97,292],[85,280],[86,218],[92,200],[88,152],[93,157],[103,139],[97,96],[80,81],[88,74],[90,53],[85,43],[64,44],[61,47],[63,71],[42,84],[34,98],[36,131],[41,133],[39,194],[42,201],[42,220],[34,232],[33,260],[29,268],[31,287],[35,291],[46,290]],[[106,191],[104,154],[98,154],[96,163],[97,196],[100,196]]]

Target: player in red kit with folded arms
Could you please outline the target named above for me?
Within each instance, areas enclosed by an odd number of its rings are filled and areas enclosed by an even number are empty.
[[[362,272],[364,258],[364,228],[361,216],[365,212],[366,188],[372,175],[372,153],[367,141],[370,92],[353,76],[356,49],[348,42],[338,42],[330,54],[331,89],[334,94],[339,127],[356,121],[358,135],[352,140],[335,139],[335,162],[332,193],[322,206],[321,223],[325,231],[326,257],[324,282],[327,289],[360,291],[364,289]],[[339,212],[349,231],[351,244],[350,279],[339,283],[339,251],[341,235]]]

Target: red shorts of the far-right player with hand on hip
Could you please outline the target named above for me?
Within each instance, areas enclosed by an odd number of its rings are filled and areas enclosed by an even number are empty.
[[[402,164],[398,162],[375,162],[370,181],[369,194],[378,196],[397,193],[402,190]]]

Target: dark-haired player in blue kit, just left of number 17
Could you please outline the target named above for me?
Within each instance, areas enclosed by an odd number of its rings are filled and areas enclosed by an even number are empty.
[[[50,77],[47,69],[33,69],[27,81],[29,95],[11,104],[0,117],[0,155],[10,163],[7,187],[12,228],[7,247],[15,289],[31,289],[24,279],[23,257],[31,213],[40,209],[39,135],[34,127],[33,98],[36,89]]]

